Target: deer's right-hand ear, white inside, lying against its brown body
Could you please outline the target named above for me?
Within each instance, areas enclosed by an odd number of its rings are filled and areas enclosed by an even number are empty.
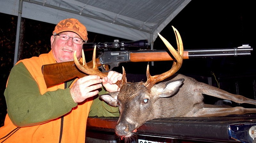
[[[159,97],[170,97],[176,94],[179,91],[181,85],[183,84],[183,81],[184,79],[178,79],[178,80],[166,82],[165,88],[162,88],[162,91],[160,91]]]

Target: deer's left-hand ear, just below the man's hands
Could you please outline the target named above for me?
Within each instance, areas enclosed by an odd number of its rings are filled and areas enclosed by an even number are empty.
[[[111,92],[108,94],[102,94],[99,95],[100,99],[104,100],[106,103],[108,103],[111,106],[117,107],[117,95],[119,94],[119,91]]]

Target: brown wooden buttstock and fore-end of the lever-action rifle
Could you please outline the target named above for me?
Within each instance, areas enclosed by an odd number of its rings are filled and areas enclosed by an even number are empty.
[[[188,59],[188,52],[184,51],[183,59]],[[173,58],[167,51],[160,52],[130,52],[129,62],[151,62],[151,61],[172,61]],[[98,67],[102,64],[99,58],[96,58]],[[82,63],[81,63],[82,64]],[[92,67],[92,61],[87,65]],[[77,69],[74,61],[62,62],[56,64],[46,64],[42,66],[42,72],[47,88],[64,83],[74,78],[82,78],[87,74]]]

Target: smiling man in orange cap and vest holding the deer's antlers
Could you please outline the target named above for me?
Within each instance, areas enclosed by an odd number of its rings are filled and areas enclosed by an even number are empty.
[[[77,19],[64,19],[53,31],[49,53],[21,60],[12,68],[4,92],[7,115],[0,128],[1,143],[85,142],[86,120],[94,96],[103,89],[102,85],[108,92],[118,91],[115,83],[122,79],[122,74],[110,71],[103,79],[89,75],[47,88],[41,67],[73,61],[74,51],[81,59],[83,43],[87,40],[83,24]],[[104,104],[95,101],[95,105]],[[110,107],[102,114],[97,112],[94,111],[92,116],[108,113],[118,116],[118,111]]]

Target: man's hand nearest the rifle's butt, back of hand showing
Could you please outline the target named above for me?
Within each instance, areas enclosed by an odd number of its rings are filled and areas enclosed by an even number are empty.
[[[97,75],[88,75],[78,79],[70,89],[70,94],[76,103],[83,102],[85,99],[97,95],[102,85],[102,79]]]

